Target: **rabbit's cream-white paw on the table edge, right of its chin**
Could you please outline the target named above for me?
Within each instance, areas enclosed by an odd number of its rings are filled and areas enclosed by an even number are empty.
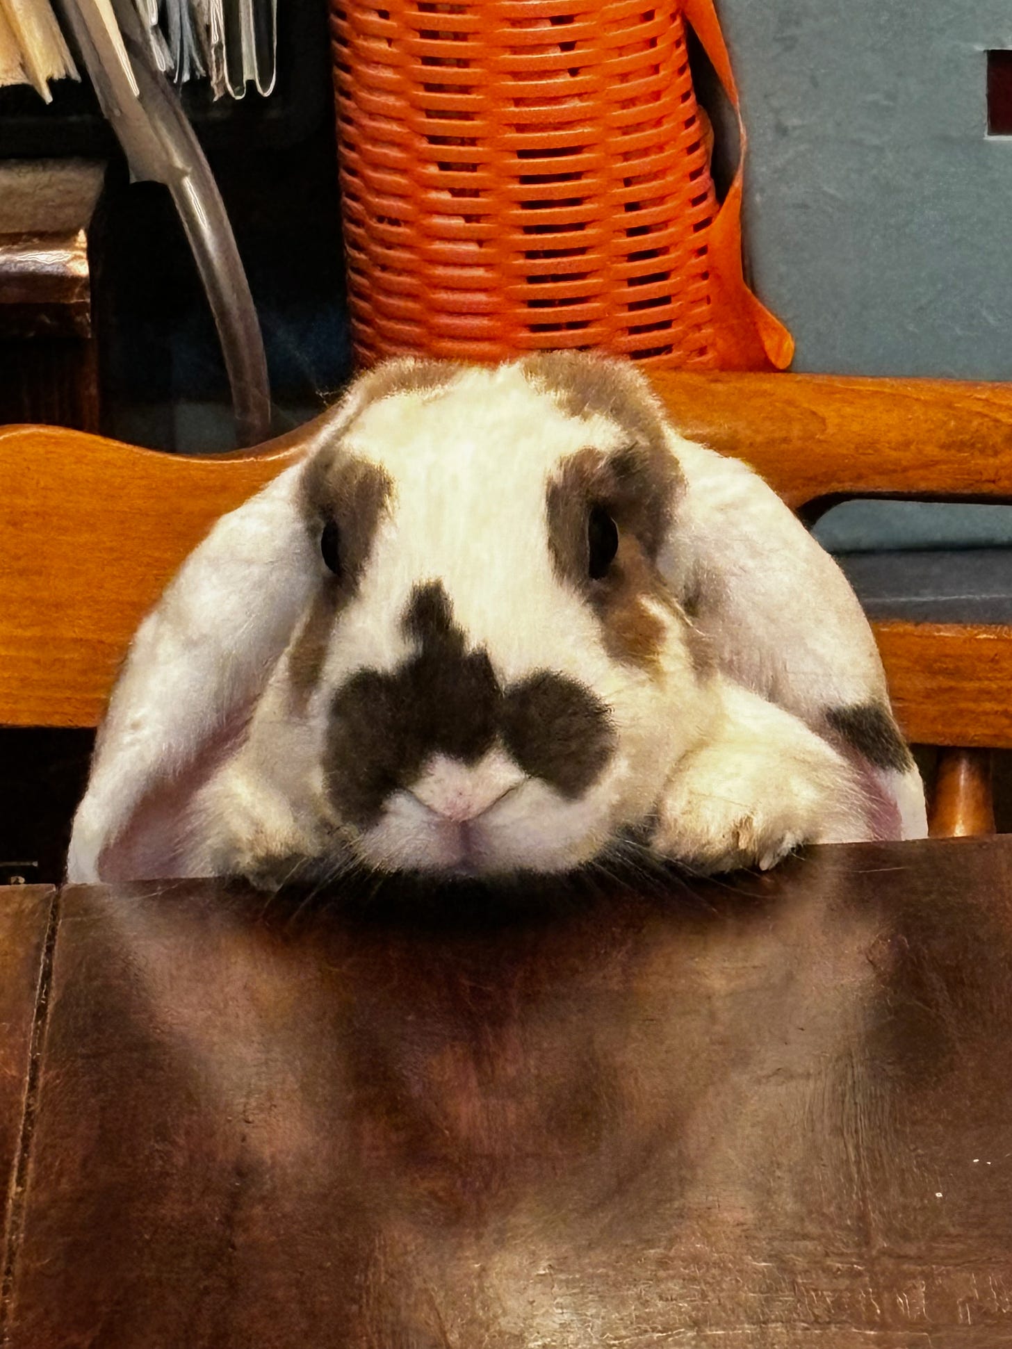
[[[803,843],[868,831],[851,766],[797,718],[725,685],[712,739],[688,753],[657,805],[652,846],[694,871],[775,866]]]

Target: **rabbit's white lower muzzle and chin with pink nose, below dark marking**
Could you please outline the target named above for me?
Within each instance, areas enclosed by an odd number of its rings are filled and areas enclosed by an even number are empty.
[[[528,781],[482,815],[453,820],[409,792],[387,801],[382,819],[351,846],[381,871],[441,876],[510,876],[567,871],[595,857],[613,834],[610,812],[594,799],[560,800]]]

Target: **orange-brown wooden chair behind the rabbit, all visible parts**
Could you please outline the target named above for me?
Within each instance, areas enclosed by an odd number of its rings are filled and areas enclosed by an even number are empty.
[[[1012,502],[1012,386],[737,374],[656,386],[685,434],[749,460],[807,519],[853,496]],[[94,726],[182,557],[304,436],[188,459],[0,430],[0,724]],[[1012,747],[1012,627],[874,630],[905,734],[940,749],[932,832],[993,831],[989,750]]]

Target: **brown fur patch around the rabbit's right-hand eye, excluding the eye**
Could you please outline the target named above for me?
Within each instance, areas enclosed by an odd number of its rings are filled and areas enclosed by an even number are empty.
[[[611,453],[578,451],[548,483],[548,544],[556,573],[590,602],[609,654],[641,668],[656,665],[664,643],[667,623],[656,604],[677,612],[657,554],[680,484],[667,447],[656,453],[640,444]],[[618,526],[615,560],[599,580],[588,573],[587,522],[594,506],[602,506]]]

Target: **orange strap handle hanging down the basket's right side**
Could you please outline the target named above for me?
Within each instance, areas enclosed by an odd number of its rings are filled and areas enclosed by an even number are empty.
[[[793,356],[793,339],[749,289],[742,270],[741,212],[748,135],[727,46],[712,0],[683,0],[681,13],[699,38],[738,119],[738,165],[707,235],[711,294],[721,310],[715,324],[718,366],[722,370],[785,370]]]

